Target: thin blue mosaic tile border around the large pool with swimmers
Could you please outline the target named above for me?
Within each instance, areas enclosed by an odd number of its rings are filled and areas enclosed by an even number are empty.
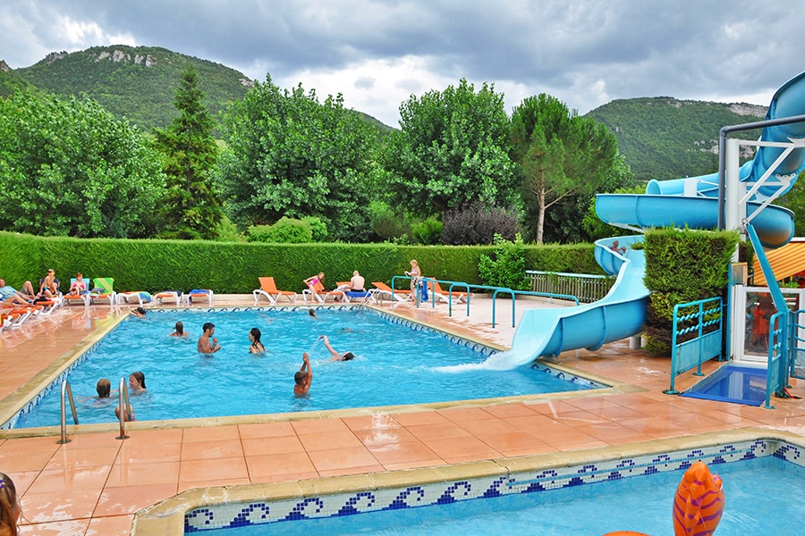
[[[329,310],[338,309],[338,310],[349,310],[355,309],[360,306],[355,305],[335,305],[335,306],[312,306],[313,308],[326,308]],[[216,313],[235,313],[235,312],[248,312],[248,311],[257,311],[257,312],[294,312],[300,310],[307,310],[311,308],[311,306],[296,306],[296,305],[288,305],[288,306],[269,306],[269,307],[262,307],[262,306],[245,306],[245,307],[182,307],[182,308],[149,308],[149,314],[165,314],[165,313],[175,313],[176,311],[180,311],[182,313],[203,313],[203,314],[216,314]],[[386,320],[386,322],[391,322],[394,324],[400,324],[402,326],[408,327],[413,331],[428,331],[430,333],[435,333],[436,335],[441,335],[448,339],[453,344],[457,344],[462,347],[470,348],[471,350],[478,352],[482,356],[492,356],[497,353],[495,348],[487,347],[486,345],[480,344],[478,342],[469,340],[469,339],[462,339],[456,335],[451,333],[447,333],[445,331],[436,330],[429,326],[420,324],[418,322],[413,322],[406,318],[401,318],[400,316],[396,316],[394,314],[388,314],[383,311],[377,311],[375,309],[369,309],[366,307],[362,307],[363,310],[369,311],[372,314],[376,314],[380,318]],[[108,333],[113,332],[118,328],[120,323],[114,326]],[[108,335],[106,333],[106,335]],[[106,336],[105,335],[105,336]],[[93,344],[89,347],[84,353],[80,356],[76,357],[76,359],[64,370],[63,373],[59,374],[58,377],[55,378],[45,389],[39,391],[36,396],[31,398],[28,403],[23,406],[20,411],[14,414],[8,421],[0,425],[0,430],[13,430],[16,429],[16,425],[19,422],[22,415],[29,414],[33,411],[34,407],[38,405],[39,401],[42,398],[45,398],[53,389],[61,389],[62,381],[64,381],[67,376],[72,373],[72,371],[77,367],[82,361],[87,359],[89,356],[92,355],[97,350],[97,345],[100,341]],[[563,381],[569,381],[572,383],[579,383],[586,388],[589,389],[600,389],[604,387],[609,387],[607,385],[597,383],[596,381],[591,381],[581,376],[577,376],[570,373],[565,373],[563,371],[552,369],[545,364],[538,364],[535,363],[531,366],[531,368],[538,370],[542,373],[548,373],[554,375],[556,378],[561,379]]]

